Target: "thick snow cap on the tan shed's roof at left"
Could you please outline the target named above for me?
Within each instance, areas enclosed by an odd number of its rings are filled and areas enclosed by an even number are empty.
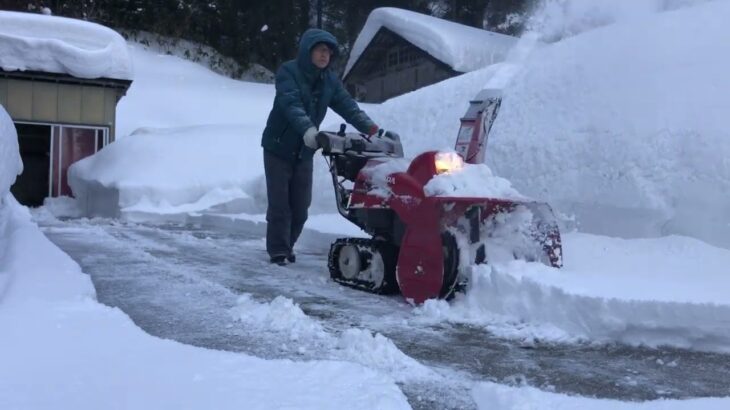
[[[132,80],[127,43],[87,21],[0,11],[0,68]]]

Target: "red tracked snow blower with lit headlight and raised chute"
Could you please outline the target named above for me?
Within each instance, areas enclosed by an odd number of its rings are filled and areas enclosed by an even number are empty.
[[[498,91],[481,91],[461,119],[456,153],[424,152],[410,164],[394,133],[367,137],[345,132],[343,124],[339,132],[317,135],[339,213],[371,236],[332,244],[334,281],[374,293],[400,291],[420,304],[452,296],[465,285],[460,267],[488,263],[493,254],[562,266],[560,231],[549,205],[424,191],[437,175],[484,162],[500,103]]]

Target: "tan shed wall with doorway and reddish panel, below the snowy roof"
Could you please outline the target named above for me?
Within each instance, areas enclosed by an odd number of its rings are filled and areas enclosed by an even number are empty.
[[[27,206],[70,196],[67,170],[114,140],[116,106],[131,81],[0,70],[0,104],[18,131],[23,173],[11,192]]]

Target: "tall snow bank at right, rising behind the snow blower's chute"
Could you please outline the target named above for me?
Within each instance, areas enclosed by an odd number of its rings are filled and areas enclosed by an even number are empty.
[[[727,15],[708,2],[536,51],[505,90],[491,168],[586,231],[730,246]]]

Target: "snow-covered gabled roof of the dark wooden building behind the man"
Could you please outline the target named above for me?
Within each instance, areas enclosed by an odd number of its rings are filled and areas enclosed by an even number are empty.
[[[455,71],[468,72],[504,60],[517,38],[392,7],[370,13],[350,52],[345,75],[381,28],[398,34]]]

